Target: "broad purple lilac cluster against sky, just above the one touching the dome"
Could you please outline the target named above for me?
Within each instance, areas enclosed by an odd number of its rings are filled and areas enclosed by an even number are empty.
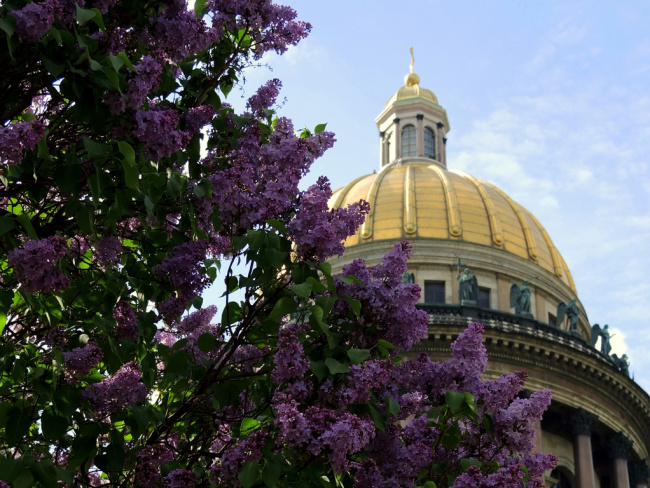
[[[221,221],[241,232],[287,215],[300,178],[333,142],[329,132],[299,139],[290,121],[278,119],[268,144],[262,145],[257,124],[248,126],[238,147],[225,155],[229,166],[209,177]],[[213,158],[209,155],[205,164],[214,164]]]

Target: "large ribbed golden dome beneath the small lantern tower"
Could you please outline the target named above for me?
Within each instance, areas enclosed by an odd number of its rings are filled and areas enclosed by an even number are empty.
[[[370,214],[346,247],[401,239],[489,246],[539,265],[576,292],[564,259],[525,208],[497,187],[433,163],[391,164],[334,192],[331,207],[364,199]]]

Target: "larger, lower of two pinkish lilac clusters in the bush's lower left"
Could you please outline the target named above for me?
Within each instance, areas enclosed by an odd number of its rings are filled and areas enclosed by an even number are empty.
[[[88,386],[81,398],[88,400],[97,415],[108,415],[147,398],[137,362],[126,363],[110,378]]]

